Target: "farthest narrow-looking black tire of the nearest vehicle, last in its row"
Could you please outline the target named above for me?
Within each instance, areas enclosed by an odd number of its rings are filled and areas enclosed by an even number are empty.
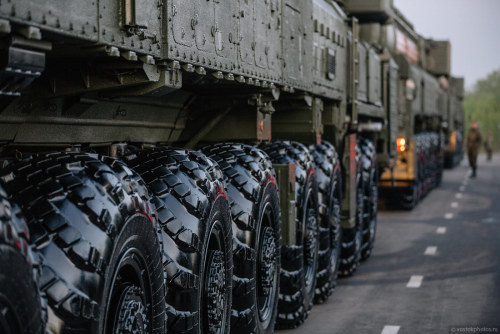
[[[377,184],[377,152],[375,145],[365,139],[363,148],[363,244],[361,245],[361,260],[370,257],[375,245],[377,232],[378,184]]]

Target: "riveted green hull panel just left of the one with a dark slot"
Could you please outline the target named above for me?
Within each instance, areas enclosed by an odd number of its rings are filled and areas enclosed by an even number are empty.
[[[312,89],[312,1],[283,1],[283,84]]]

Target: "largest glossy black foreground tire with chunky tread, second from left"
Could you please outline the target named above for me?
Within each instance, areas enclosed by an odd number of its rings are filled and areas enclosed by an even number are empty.
[[[160,245],[144,182],[123,163],[52,153],[0,172],[40,256],[51,333],[163,333]]]

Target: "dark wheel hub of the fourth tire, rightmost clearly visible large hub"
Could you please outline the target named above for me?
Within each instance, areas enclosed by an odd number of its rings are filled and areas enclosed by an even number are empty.
[[[259,263],[261,291],[264,296],[269,296],[276,277],[276,239],[270,227],[265,227],[262,234]]]

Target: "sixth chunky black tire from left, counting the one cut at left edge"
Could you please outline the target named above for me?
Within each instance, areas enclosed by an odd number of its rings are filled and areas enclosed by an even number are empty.
[[[324,303],[337,285],[342,240],[342,171],[333,145],[322,141],[310,148],[319,189],[320,244],[315,303]]]

